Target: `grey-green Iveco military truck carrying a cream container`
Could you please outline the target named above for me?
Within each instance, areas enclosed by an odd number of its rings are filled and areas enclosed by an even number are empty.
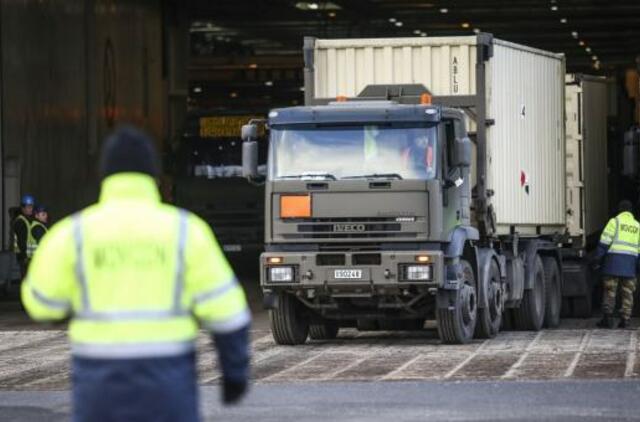
[[[306,38],[305,106],[269,113],[261,287],[279,344],[340,327],[445,343],[559,323],[565,61],[493,38]],[[242,129],[257,172],[258,122]]]

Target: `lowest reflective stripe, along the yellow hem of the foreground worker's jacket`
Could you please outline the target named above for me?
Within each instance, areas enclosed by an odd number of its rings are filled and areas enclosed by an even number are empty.
[[[128,359],[180,356],[195,350],[193,341],[163,343],[72,343],[73,356],[94,359]]]

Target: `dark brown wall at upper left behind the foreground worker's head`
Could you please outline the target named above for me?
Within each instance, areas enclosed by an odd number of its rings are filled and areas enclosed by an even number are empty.
[[[164,134],[161,2],[0,7],[4,208],[31,192],[61,217],[95,200],[97,152],[113,125]]]

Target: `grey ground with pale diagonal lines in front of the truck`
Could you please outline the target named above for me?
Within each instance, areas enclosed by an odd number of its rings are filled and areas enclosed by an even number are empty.
[[[257,298],[252,305],[254,386],[242,406],[220,407],[215,355],[205,333],[198,340],[207,419],[640,418],[638,320],[600,330],[596,319],[569,319],[559,329],[506,331],[464,346],[440,344],[434,330],[343,329],[336,340],[287,347],[273,342]],[[0,421],[68,418],[64,327],[30,323],[15,301],[0,303],[0,314]]]

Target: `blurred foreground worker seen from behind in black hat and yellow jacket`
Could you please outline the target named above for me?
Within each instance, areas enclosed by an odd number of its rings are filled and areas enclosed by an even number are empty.
[[[105,143],[100,200],[52,227],[22,301],[37,321],[70,319],[74,421],[196,421],[195,340],[215,342],[222,399],[249,377],[250,313],[209,226],[164,205],[152,141]]]

